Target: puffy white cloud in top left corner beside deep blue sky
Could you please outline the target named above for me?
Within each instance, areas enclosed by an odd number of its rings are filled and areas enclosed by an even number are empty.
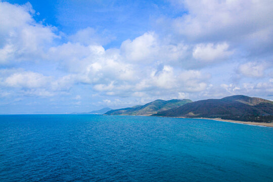
[[[0,2],[0,64],[41,59],[54,38],[54,28],[33,19],[34,10]]]

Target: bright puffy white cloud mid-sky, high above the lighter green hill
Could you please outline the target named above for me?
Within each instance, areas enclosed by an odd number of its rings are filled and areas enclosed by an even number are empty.
[[[146,32],[133,40],[127,39],[120,47],[125,61],[141,64],[179,62],[189,54],[188,50],[189,46],[183,42],[173,43],[168,37],[159,38],[155,32]]]

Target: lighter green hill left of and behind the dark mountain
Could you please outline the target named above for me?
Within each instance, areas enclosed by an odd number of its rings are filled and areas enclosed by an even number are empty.
[[[156,100],[153,102],[150,102],[148,104],[145,104],[143,106],[133,106],[130,108],[122,108],[122,109],[116,109],[111,110],[105,113],[105,115],[141,115],[141,116],[150,116],[152,114],[156,114],[160,111],[165,111],[172,108],[177,108],[179,106],[182,106],[187,103],[191,103],[192,101],[189,99],[183,99],[183,100]]]

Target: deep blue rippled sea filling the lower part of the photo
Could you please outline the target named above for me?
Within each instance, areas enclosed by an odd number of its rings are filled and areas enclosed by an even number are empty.
[[[205,119],[0,115],[0,181],[273,181],[273,128]]]

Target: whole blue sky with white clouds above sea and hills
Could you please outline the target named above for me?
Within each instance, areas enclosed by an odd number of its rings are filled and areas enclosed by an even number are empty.
[[[271,0],[0,0],[0,114],[273,100]]]

